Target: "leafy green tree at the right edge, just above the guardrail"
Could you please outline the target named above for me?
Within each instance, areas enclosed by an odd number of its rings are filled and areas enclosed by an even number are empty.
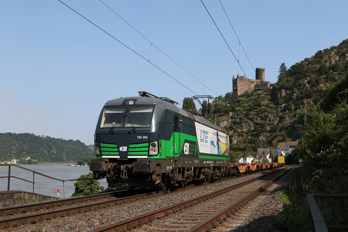
[[[347,194],[347,98],[342,97],[328,112],[319,105],[305,111],[310,123],[302,131],[306,150],[299,152],[299,156],[307,170],[307,189],[314,194]]]

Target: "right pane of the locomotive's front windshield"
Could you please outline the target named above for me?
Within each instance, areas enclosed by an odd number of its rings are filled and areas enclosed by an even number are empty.
[[[125,127],[149,127],[153,106],[129,106]]]

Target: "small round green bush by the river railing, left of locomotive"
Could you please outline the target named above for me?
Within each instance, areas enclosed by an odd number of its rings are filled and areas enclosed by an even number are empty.
[[[98,180],[88,178],[93,178],[93,173],[81,175],[78,178],[78,181],[74,183],[75,192],[71,195],[71,197],[97,194],[104,189],[104,186],[100,186]]]

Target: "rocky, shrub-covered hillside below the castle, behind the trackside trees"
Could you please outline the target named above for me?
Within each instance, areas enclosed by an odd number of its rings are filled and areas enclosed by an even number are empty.
[[[343,80],[348,69],[347,53],[348,39],[338,46],[319,50],[289,69],[285,63],[280,64],[275,87],[264,93],[219,96],[211,104],[208,118],[215,121],[216,115],[218,124],[228,131],[231,160],[255,154],[258,147],[276,148],[279,142],[300,139],[304,127],[301,109],[332,98],[331,90]],[[341,86],[335,91],[342,89]],[[330,110],[330,105],[326,110]]]

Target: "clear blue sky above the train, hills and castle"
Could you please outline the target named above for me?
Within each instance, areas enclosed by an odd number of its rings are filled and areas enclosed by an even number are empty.
[[[63,2],[149,58],[151,43],[99,0]],[[103,2],[206,86],[152,46],[150,62],[193,92],[224,95],[244,74],[200,0]],[[203,2],[254,79],[220,2]],[[290,67],[348,38],[347,0],[221,2],[251,64],[272,83],[282,62]],[[141,90],[179,103],[196,95],[58,0],[0,1],[0,30],[0,133],[89,145],[110,99]]]

